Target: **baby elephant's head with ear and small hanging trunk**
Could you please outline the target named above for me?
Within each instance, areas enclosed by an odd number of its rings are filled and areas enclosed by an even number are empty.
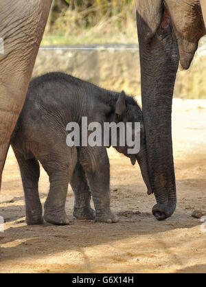
[[[118,126],[117,142],[113,146],[113,133],[111,133],[111,145],[118,152],[130,158],[133,165],[136,161],[139,163],[142,177],[148,188],[148,194],[151,194],[142,111],[133,97],[126,96],[124,91],[119,93],[119,97],[115,102],[113,122]]]

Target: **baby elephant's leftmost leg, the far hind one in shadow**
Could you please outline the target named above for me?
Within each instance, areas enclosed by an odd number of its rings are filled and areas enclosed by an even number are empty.
[[[43,223],[42,206],[38,195],[38,179],[40,168],[38,161],[25,159],[23,154],[12,146],[19,163],[23,191],[25,194],[25,211],[27,225],[41,225]]]

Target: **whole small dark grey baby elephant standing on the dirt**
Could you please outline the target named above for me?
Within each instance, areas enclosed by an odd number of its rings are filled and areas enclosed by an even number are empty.
[[[124,92],[101,89],[64,73],[47,73],[30,83],[25,105],[11,139],[21,171],[27,225],[43,223],[38,196],[38,161],[49,175],[50,182],[44,220],[54,225],[69,224],[65,201],[70,183],[75,196],[73,216],[78,219],[117,222],[110,209],[110,173],[106,146],[85,144],[83,133],[87,130],[88,141],[92,136],[91,130],[84,126],[85,121],[83,124],[86,117],[88,125],[95,122],[102,128],[105,123],[111,122],[141,123],[141,149],[137,154],[128,154],[131,146],[119,144],[120,129],[117,129],[115,148],[129,157],[133,164],[136,160],[139,162],[148,193],[151,193],[142,113],[133,97],[126,96]],[[72,137],[70,140],[67,138],[68,124],[71,123],[76,123],[82,133],[76,141],[80,144],[68,146],[66,141],[72,141]],[[134,130],[132,132],[134,136]],[[111,134],[107,146],[112,144]],[[95,211],[90,206],[91,196]]]

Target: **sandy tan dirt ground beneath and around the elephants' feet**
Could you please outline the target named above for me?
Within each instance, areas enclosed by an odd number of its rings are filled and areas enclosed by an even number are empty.
[[[151,214],[155,196],[146,194],[138,165],[111,149],[111,208],[118,223],[73,218],[69,187],[69,226],[27,226],[19,168],[9,150],[0,196],[0,272],[206,273],[206,232],[191,216],[195,209],[206,215],[206,100],[175,99],[172,122],[178,205],[163,222]],[[42,203],[48,187],[41,170]]]

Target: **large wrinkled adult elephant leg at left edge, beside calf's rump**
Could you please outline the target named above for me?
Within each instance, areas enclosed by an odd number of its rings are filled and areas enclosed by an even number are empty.
[[[0,187],[52,0],[0,1]]]

